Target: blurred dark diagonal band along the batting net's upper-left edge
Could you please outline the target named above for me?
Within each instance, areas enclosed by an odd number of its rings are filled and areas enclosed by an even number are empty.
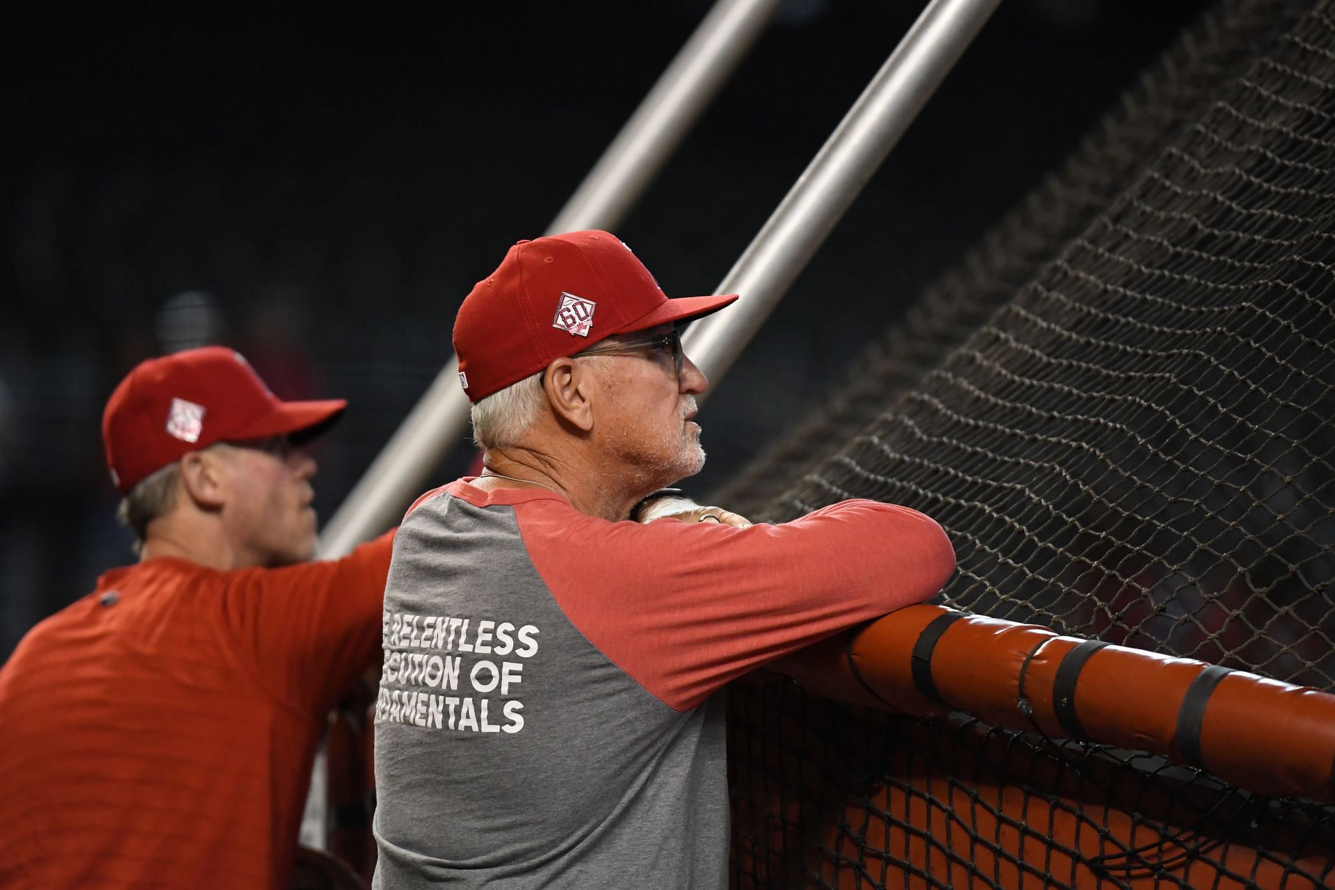
[[[1246,71],[1256,41],[1274,39],[1302,8],[1230,0],[1203,16],[1067,163],[929,287],[905,320],[888,328],[797,428],[718,490],[718,502],[777,515],[768,502],[861,432],[893,395],[917,383],[1029,283],[1214,99],[1220,83]]]

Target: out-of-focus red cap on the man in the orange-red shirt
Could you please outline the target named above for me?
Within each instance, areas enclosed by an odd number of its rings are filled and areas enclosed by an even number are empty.
[[[140,362],[101,415],[111,480],[128,492],[144,476],[215,442],[284,434],[310,439],[347,402],[280,402],[239,352],[207,346]]]

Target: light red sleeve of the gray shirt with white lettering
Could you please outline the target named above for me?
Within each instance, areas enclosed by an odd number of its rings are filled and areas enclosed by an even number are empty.
[[[571,519],[551,499],[515,512],[534,567],[575,627],[678,710],[760,664],[928,599],[955,571],[936,522],[872,500],[750,528]]]

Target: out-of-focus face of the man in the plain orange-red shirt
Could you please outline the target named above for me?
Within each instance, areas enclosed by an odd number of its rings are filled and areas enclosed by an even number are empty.
[[[315,460],[287,436],[222,446],[226,534],[250,566],[288,566],[315,556],[311,478]]]

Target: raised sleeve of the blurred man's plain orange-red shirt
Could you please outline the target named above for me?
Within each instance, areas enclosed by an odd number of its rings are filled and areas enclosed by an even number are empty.
[[[228,623],[282,701],[324,714],[379,660],[392,540],[390,531],[342,559],[235,572]]]

